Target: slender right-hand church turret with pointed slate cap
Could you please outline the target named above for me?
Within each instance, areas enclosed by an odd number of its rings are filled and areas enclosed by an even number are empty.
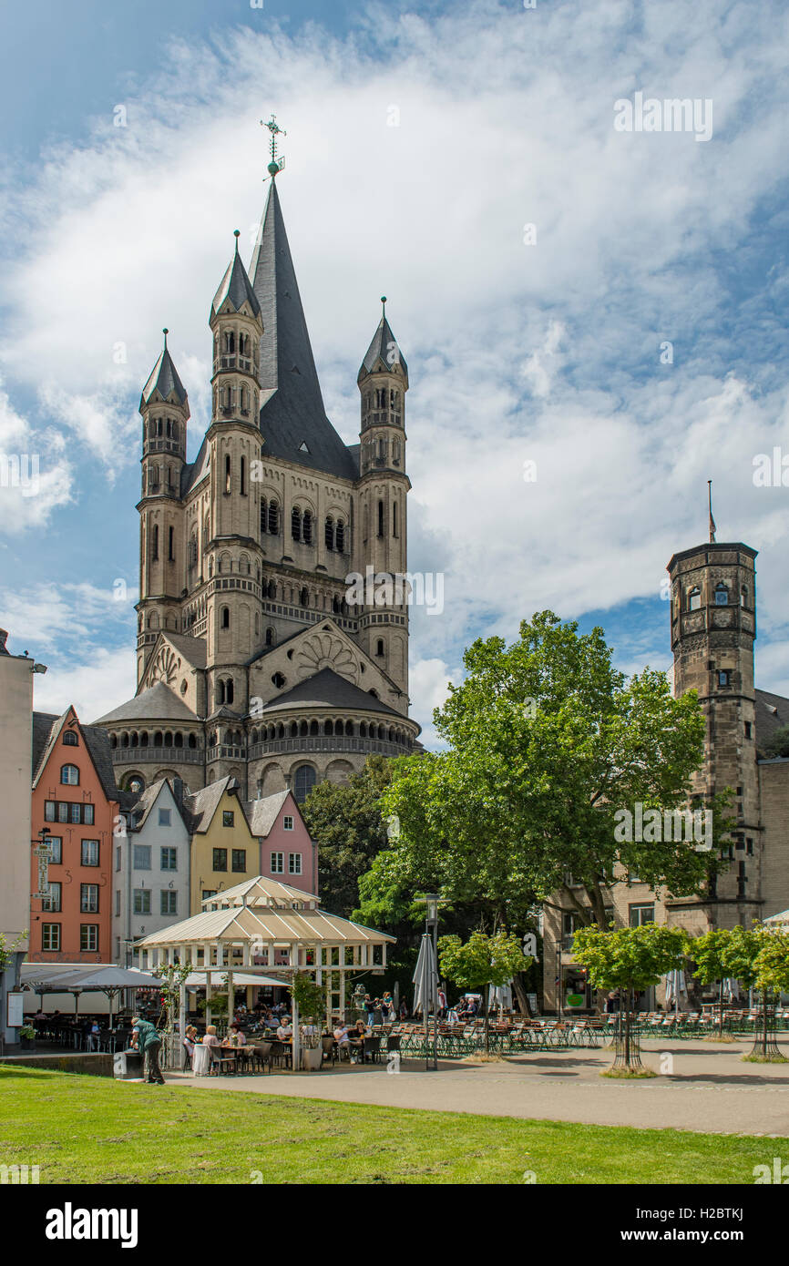
[[[374,592],[366,594],[360,641],[367,655],[386,668],[408,698],[407,582],[396,582],[396,577],[404,576],[408,570],[408,365],[386,319],[385,296],[381,303],[384,313],[356,380],[361,395],[358,522],[363,566],[360,571],[363,575],[371,567],[374,579],[390,576],[395,584],[388,591],[385,582],[375,582]]]

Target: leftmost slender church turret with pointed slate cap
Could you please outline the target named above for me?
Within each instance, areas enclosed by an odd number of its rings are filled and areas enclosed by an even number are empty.
[[[165,346],[139,400],[142,415],[142,498],[137,680],[160,629],[179,627],[182,590],[181,473],[186,462],[189,400]]]

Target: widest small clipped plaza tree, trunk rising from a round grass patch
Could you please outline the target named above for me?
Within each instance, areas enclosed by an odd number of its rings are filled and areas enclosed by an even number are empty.
[[[638,1066],[637,1050],[631,1042],[633,993],[656,985],[667,971],[681,967],[688,947],[681,928],[643,923],[640,928],[604,932],[598,927],[579,928],[572,937],[575,961],[585,967],[593,989],[618,989],[624,994],[624,1066]]]

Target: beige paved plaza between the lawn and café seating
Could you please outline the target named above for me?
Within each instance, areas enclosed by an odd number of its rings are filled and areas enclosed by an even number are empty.
[[[393,1108],[789,1137],[789,1065],[742,1063],[751,1046],[752,1039],[719,1047],[645,1041],[643,1063],[660,1074],[645,1081],[600,1077],[612,1052],[574,1050],[485,1065],[439,1061],[438,1072],[426,1071],[423,1060],[404,1060],[399,1072],[389,1072],[384,1057],[377,1065],[334,1065],[319,1074],[168,1074],[167,1082],[208,1093],[220,1086]],[[781,1042],[781,1053],[789,1056],[789,1041]]]

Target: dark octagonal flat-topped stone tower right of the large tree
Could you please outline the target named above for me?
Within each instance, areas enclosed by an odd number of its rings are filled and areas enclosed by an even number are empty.
[[[704,766],[694,791],[704,800],[733,791],[737,818],[728,851],[731,866],[718,875],[703,903],[712,923],[751,925],[760,914],[761,823],[756,763],[756,551],[736,544],[698,546],[674,555],[671,648],[674,693],[697,690],[707,717]],[[678,905],[686,903],[678,903]]]

